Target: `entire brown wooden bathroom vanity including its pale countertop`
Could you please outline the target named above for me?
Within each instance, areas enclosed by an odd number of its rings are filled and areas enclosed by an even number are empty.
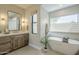
[[[0,35],[0,54],[5,54],[28,45],[28,33],[11,33]]]

